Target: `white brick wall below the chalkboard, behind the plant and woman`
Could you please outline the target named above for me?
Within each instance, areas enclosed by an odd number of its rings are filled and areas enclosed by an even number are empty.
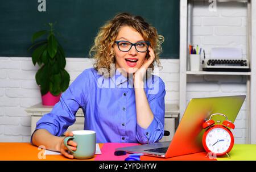
[[[71,82],[92,67],[92,59],[67,58]],[[161,60],[160,77],[166,83],[166,102],[179,102],[179,60]],[[27,107],[41,102],[35,73],[38,66],[29,57],[0,57],[0,142],[29,142],[31,119]]]

